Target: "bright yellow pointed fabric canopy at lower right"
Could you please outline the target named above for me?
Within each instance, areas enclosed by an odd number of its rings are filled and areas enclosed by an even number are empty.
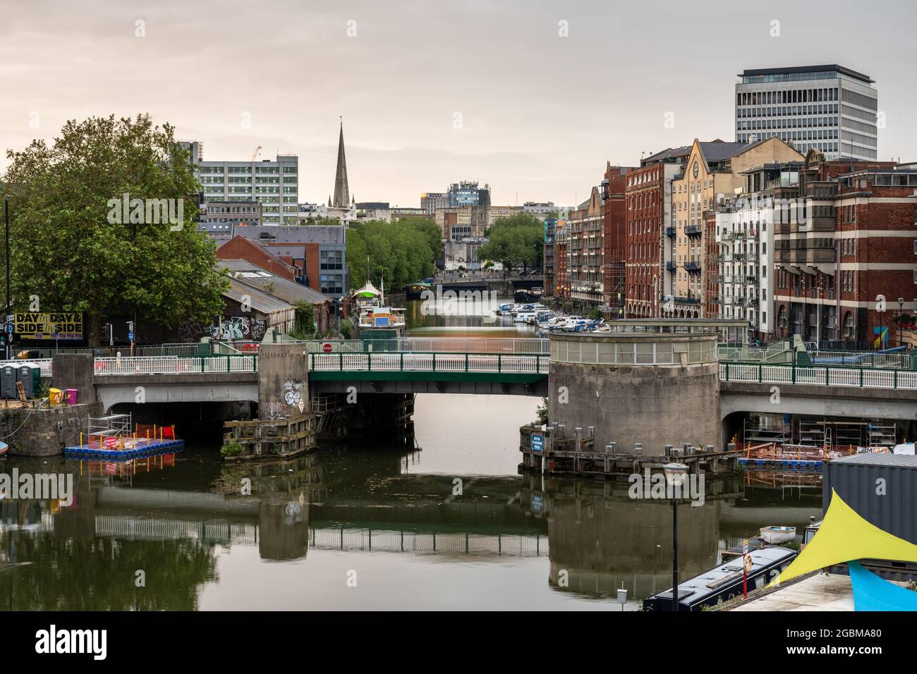
[[[856,559],[895,559],[917,563],[917,546],[870,524],[831,490],[822,525],[799,557],[771,585],[816,569]]]

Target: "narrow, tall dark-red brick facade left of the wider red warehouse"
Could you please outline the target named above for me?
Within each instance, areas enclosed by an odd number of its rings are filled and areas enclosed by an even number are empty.
[[[634,169],[605,164],[602,180],[602,304],[610,318],[624,317],[625,260],[627,260],[628,177]]]

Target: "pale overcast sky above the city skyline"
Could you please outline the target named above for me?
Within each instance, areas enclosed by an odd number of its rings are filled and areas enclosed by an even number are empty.
[[[299,155],[358,201],[450,182],[493,204],[584,200],[605,162],[735,140],[736,73],[839,63],[876,80],[879,159],[917,160],[917,3],[642,0],[0,0],[0,138],[149,113],[205,160]],[[666,124],[666,120],[672,123]],[[4,153],[5,154],[5,153]],[[0,170],[7,165],[0,159]]]

